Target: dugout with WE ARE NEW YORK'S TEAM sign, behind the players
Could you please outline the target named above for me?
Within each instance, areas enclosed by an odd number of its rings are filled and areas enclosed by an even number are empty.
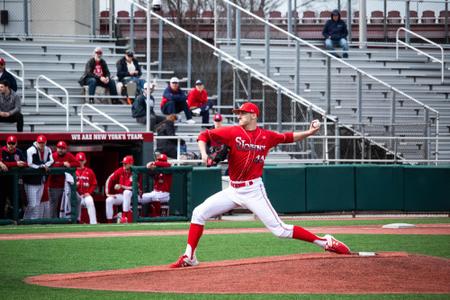
[[[26,156],[26,150],[36,141],[39,133],[0,133],[2,147],[9,135],[17,137],[17,148]],[[105,182],[108,176],[117,169],[126,155],[133,155],[135,165],[143,165],[153,160],[153,133],[142,132],[88,132],[88,133],[43,133],[47,138],[47,146],[56,150],[58,141],[68,144],[68,152],[76,154],[84,152],[87,166],[93,169],[97,177],[98,187],[93,195],[99,222],[105,221]],[[6,174],[3,174],[5,176]],[[2,176],[2,177],[3,177]],[[11,175],[12,176],[12,175]],[[6,178],[6,177],[3,177]],[[0,191],[4,192],[4,191]],[[19,198],[23,202],[24,193],[19,188]],[[12,200],[9,202],[12,204]],[[23,205],[22,205],[23,206]],[[7,219],[14,219],[9,212]],[[20,215],[19,215],[20,218]],[[17,219],[15,219],[17,221]],[[49,221],[49,220],[47,220]]]

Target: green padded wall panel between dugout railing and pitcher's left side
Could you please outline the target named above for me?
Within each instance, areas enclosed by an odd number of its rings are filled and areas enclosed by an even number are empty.
[[[221,190],[222,174],[219,167],[195,167],[192,170],[192,209]]]

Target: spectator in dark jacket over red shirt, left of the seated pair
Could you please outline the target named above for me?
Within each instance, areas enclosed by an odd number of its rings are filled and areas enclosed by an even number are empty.
[[[86,68],[83,76],[79,80],[81,86],[89,86],[89,96],[94,96],[95,88],[102,86],[109,89],[109,93],[112,96],[117,96],[116,84],[111,79],[111,74],[108,69],[106,61],[102,58],[103,50],[100,47],[95,48],[94,57],[90,58],[86,63]],[[90,103],[94,103],[94,99],[89,99]],[[117,99],[113,100],[113,103],[119,103]]]

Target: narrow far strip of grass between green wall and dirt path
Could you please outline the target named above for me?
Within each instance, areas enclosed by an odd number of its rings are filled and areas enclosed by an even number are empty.
[[[311,226],[348,226],[348,225],[383,225],[389,223],[411,223],[411,224],[436,224],[450,223],[450,218],[405,218],[405,219],[381,219],[381,220],[302,220],[286,223],[303,227]],[[99,225],[22,225],[22,226],[0,226],[0,234],[20,233],[49,233],[49,232],[86,232],[86,231],[128,231],[128,230],[164,230],[164,229],[187,229],[189,223],[135,223],[127,225],[99,224]],[[218,221],[208,222],[207,228],[262,228],[259,221]]]

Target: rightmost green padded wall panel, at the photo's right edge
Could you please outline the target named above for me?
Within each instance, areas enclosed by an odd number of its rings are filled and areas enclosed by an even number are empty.
[[[450,168],[404,167],[405,210],[450,211]]]

